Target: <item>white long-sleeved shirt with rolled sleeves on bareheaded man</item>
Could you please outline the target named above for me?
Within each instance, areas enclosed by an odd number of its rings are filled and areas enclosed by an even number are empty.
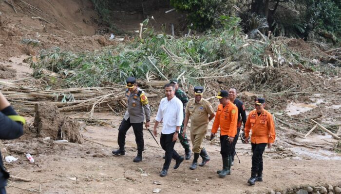
[[[160,122],[162,120],[162,133],[170,134],[175,132],[176,126],[181,126],[184,120],[183,105],[181,100],[177,97],[168,100],[164,97],[160,101],[159,110],[157,111],[155,120]]]

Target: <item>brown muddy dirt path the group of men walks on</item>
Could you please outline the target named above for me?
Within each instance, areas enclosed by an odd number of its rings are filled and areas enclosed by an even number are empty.
[[[101,118],[114,119],[119,126],[120,117],[106,114]],[[145,151],[143,161],[134,163],[136,154],[133,130],[127,134],[125,156],[113,156],[111,151],[117,147],[117,128],[98,126],[86,127],[83,136],[92,142],[84,144],[63,143],[43,145],[53,147],[48,153],[34,155],[35,163],[30,164],[23,155],[18,155],[20,162],[10,163],[11,174],[33,179],[32,182],[10,181],[8,193],[127,193],[148,194],[153,189],[162,189],[161,193],[265,193],[270,190],[283,191],[296,186],[318,186],[325,183],[341,185],[340,160],[303,160],[300,158],[264,159],[264,181],[256,186],[248,186],[246,180],[250,176],[250,145],[237,144],[237,153],[241,163],[235,162],[232,175],[219,178],[215,171],[221,168],[219,146],[204,141],[211,161],[205,167],[189,170],[191,161],[185,161],[177,170],[170,168],[167,177],[159,177],[163,164],[163,150],[156,145],[148,131],[144,131]],[[159,138],[157,138],[159,140]],[[27,146],[34,146],[34,140],[26,140]],[[94,142],[103,144],[101,146]],[[16,144],[8,141],[6,144]],[[179,143],[175,146],[180,154],[184,154]],[[43,149],[40,149],[43,152]],[[217,151],[218,150],[218,151]],[[266,149],[267,153],[274,152]],[[201,161],[201,159],[199,159]],[[237,161],[237,158],[236,158]],[[174,164],[172,161],[171,166]],[[72,180],[70,178],[76,178]],[[160,182],[161,185],[153,184]],[[22,189],[19,189],[22,188]],[[23,190],[26,189],[26,190]],[[33,192],[35,191],[35,192]],[[28,192],[30,193],[30,192]]]

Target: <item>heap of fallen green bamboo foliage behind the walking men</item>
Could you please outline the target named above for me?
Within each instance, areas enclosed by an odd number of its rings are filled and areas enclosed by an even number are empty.
[[[227,59],[230,62],[244,60],[243,64],[256,61],[262,65],[262,51],[254,51],[253,47],[247,48],[248,51],[242,49],[245,42],[239,22],[237,17],[223,16],[224,28],[197,38],[174,39],[166,34],[155,35],[148,28],[143,32],[142,40],[96,52],[75,54],[58,48],[42,50],[38,62],[31,61],[30,64],[35,76],[41,75],[42,69],[46,68],[65,76],[69,87],[91,87],[99,86],[103,81],[124,83],[128,76],[145,79],[147,73],[162,80],[151,59],[167,78],[186,71],[187,81],[196,84],[201,81],[198,77],[206,77],[212,72],[212,66],[201,66],[204,63]],[[246,52],[250,52],[253,58],[245,57]],[[214,67],[223,68],[219,66],[221,64]]]

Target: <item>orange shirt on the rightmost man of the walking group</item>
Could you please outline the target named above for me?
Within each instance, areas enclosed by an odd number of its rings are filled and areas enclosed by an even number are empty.
[[[251,143],[253,144],[270,144],[275,141],[275,124],[271,113],[265,110],[259,116],[256,110],[248,114],[245,124],[246,138],[249,136],[250,130],[252,130]]]

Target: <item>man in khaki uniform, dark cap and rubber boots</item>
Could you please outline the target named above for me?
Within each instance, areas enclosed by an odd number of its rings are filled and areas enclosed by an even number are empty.
[[[208,122],[213,119],[214,111],[211,104],[203,99],[204,88],[201,86],[194,87],[195,97],[190,99],[186,106],[186,116],[184,120],[184,132],[188,125],[189,118],[190,124],[190,139],[193,145],[194,159],[189,169],[194,170],[197,167],[199,155],[203,158],[203,162],[199,166],[204,166],[209,157],[205,148],[201,147],[201,143],[207,132]]]

